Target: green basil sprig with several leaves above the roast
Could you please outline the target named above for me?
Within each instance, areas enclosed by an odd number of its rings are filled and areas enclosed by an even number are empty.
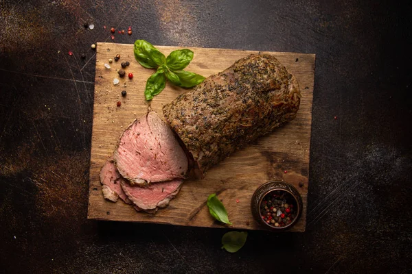
[[[136,40],[135,58],[141,66],[146,69],[157,69],[156,73],[149,77],[146,82],[144,96],[146,100],[151,100],[158,95],[166,85],[166,79],[175,86],[192,88],[201,84],[205,77],[189,71],[183,71],[193,59],[193,51],[190,49],[178,49],[172,51],[168,58],[150,42]]]

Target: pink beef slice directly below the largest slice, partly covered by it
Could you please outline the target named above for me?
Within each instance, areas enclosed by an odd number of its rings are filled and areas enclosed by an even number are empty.
[[[165,208],[171,199],[179,192],[182,179],[173,179],[168,182],[152,183],[147,187],[131,186],[125,181],[121,186],[128,199],[137,206],[136,210],[154,213],[157,208]]]

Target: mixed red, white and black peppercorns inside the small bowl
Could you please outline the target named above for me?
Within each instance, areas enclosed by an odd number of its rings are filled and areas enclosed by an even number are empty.
[[[294,212],[296,203],[288,192],[282,190],[269,192],[260,203],[260,216],[268,225],[285,227],[296,218]]]

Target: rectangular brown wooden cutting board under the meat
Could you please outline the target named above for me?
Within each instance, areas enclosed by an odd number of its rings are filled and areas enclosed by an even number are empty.
[[[166,56],[180,47],[157,47]],[[208,77],[227,69],[236,60],[258,51],[233,49],[190,48],[194,59],[187,71]],[[297,77],[301,88],[301,105],[297,117],[284,127],[264,136],[249,147],[233,153],[210,169],[204,179],[187,179],[170,205],[156,214],[136,212],[122,201],[112,203],[102,195],[99,173],[106,159],[111,157],[117,139],[136,118],[144,115],[148,104],[144,99],[146,79],[154,70],[144,69],[134,58],[133,45],[98,43],[95,96],[93,110],[93,135],[91,143],[89,219],[190,225],[198,227],[227,227],[215,221],[206,206],[207,197],[217,193],[227,208],[233,228],[263,229],[251,214],[251,197],[258,186],[273,179],[293,184],[300,192],[304,209],[299,222],[290,229],[304,232],[308,195],[310,126],[312,121],[312,95],[314,81],[314,54],[265,52],[275,57]],[[108,59],[120,55],[106,69]],[[126,77],[120,78],[117,69],[121,62],[130,62]],[[133,73],[128,79],[127,73]],[[118,78],[120,83],[113,84]],[[122,97],[122,90],[127,96]],[[151,107],[163,116],[162,105],[169,103],[187,90],[166,85],[160,95],[152,100]],[[117,107],[120,101],[122,105]]]

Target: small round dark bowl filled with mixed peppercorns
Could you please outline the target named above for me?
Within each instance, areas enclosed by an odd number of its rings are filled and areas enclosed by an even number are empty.
[[[291,184],[282,181],[262,184],[253,193],[251,201],[255,220],[266,229],[277,231],[293,227],[301,216],[302,208],[299,191]]]

